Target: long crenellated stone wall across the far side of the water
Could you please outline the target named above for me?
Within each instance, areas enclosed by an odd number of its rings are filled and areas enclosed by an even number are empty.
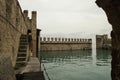
[[[50,50],[84,50],[92,48],[92,39],[79,38],[40,38],[41,51]]]

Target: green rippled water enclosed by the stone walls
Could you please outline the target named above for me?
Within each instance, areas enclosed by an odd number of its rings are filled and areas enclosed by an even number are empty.
[[[51,80],[111,80],[109,50],[41,52]]]

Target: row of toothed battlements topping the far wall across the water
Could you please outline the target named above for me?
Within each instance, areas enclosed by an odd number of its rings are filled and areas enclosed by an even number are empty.
[[[92,39],[41,37],[41,43],[92,43]]]

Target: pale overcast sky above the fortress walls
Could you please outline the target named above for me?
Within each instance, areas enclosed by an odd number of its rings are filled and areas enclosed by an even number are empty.
[[[37,11],[42,34],[110,33],[111,25],[95,0],[19,0],[23,10]]]

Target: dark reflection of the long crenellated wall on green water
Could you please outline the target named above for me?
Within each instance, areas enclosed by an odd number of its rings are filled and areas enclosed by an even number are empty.
[[[87,51],[54,51],[42,52],[43,63],[71,63],[73,61],[88,61],[92,60],[91,50]]]

